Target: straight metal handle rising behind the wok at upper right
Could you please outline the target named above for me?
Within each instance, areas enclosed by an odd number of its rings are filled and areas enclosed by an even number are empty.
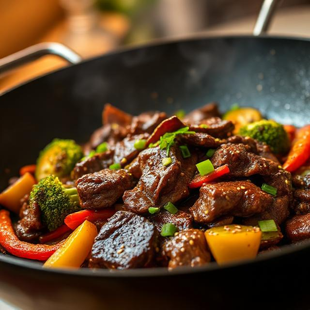
[[[280,0],[264,0],[261,11],[256,19],[253,35],[258,36],[267,32],[274,12]]]

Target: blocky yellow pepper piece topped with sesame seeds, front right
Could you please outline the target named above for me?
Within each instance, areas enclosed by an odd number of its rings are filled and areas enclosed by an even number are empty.
[[[218,264],[254,258],[262,237],[258,227],[242,225],[215,227],[204,234]]]

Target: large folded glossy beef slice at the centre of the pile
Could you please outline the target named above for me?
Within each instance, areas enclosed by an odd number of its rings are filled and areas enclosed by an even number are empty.
[[[126,210],[145,213],[149,207],[162,207],[188,196],[187,185],[196,171],[196,155],[184,159],[175,145],[169,155],[171,164],[164,166],[162,159],[167,157],[166,150],[155,147],[140,152],[138,161],[142,175],[134,189],[124,192]]]

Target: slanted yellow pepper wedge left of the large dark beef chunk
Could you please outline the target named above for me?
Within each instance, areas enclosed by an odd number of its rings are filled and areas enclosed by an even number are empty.
[[[78,268],[85,261],[97,235],[96,225],[85,220],[44,263],[48,268]]]

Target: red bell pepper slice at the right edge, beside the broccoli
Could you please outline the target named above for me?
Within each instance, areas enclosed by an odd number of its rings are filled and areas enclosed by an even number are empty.
[[[283,164],[283,168],[293,172],[301,167],[308,158],[310,158],[310,125],[298,130],[293,147]]]

